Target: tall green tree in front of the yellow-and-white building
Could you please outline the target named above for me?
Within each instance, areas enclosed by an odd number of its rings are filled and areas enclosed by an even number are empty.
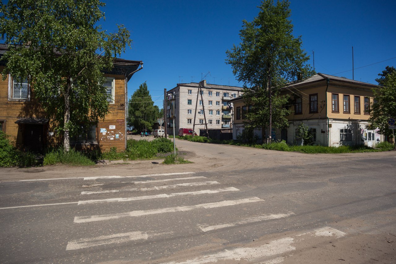
[[[288,112],[278,111],[286,100],[278,90],[297,77],[311,76],[314,71],[307,64],[309,56],[301,48],[301,36],[295,38],[292,34],[289,1],[275,4],[273,0],[265,0],[259,9],[252,22],[243,21],[239,34],[242,42],[227,50],[226,63],[231,65],[238,81],[254,88],[244,91],[246,103],[255,103],[247,119],[263,131],[268,128],[270,142],[271,128],[284,127],[287,122]],[[268,114],[262,114],[267,111]]]

